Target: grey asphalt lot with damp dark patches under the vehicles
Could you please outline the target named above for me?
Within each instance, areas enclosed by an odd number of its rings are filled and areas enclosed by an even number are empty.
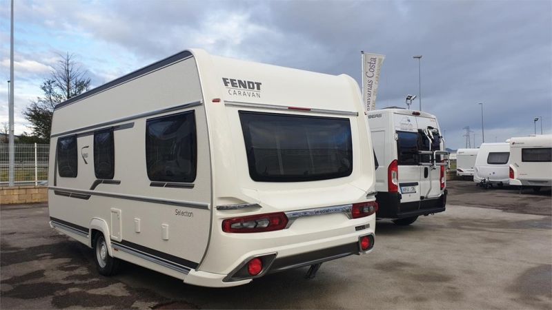
[[[0,207],[0,308],[551,309],[550,192],[449,181],[444,213],[379,220],[371,254],[212,289],[130,263],[99,276],[92,249],[48,226],[48,208]]]

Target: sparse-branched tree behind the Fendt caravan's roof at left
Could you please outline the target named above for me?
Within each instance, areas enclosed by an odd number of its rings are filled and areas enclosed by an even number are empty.
[[[40,86],[43,96],[30,102],[23,115],[30,122],[32,136],[48,143],[52,129],[52,115],[59,103],[86,92],[90,88],[88,72],[75,61],[75,54],[59,55],[50,76]]]

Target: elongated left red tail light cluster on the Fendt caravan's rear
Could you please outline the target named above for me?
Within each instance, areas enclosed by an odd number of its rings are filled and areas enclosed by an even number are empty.
[[[286,228],[288,217],[284,212],[228,218],[222,221],[222,231],[228,233],[255,233]]]

